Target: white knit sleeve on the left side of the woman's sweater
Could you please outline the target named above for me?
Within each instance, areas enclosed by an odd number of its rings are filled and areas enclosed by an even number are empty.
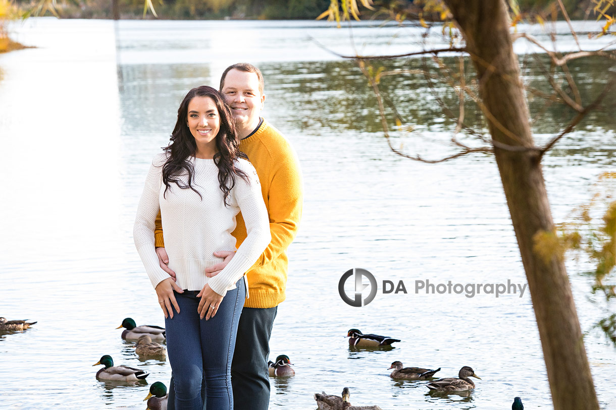
[[[158,283],[170,277],[160,267],[154,247],[154,221],[156,214],[160,211],[158,195],[163,183],[163,162],[164,155],[157,155],[152,161],[152,166],[150,166],[150,171],[148,171],[148,176],[145,179],[145,187],[141,194],[139,207],[137,207],[137,217],[132,231],[137,252],[144,263],[145,271],[150,277],[150,282],[152,282],[152,286],[155,288]]]

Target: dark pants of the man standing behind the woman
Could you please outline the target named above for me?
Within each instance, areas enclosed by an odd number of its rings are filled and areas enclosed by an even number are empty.
[[[278,307],[268,309],[243,308],[235,339],[235,352],[231,364],[233,403],[237,410],[267,410],[270,384],[267,360],[269,338]],[[168,410],[174,407],[174,376],[169,383]],[[205,403],[205,390],[201,390]],[[216,409],[209,409],[216,410]]]

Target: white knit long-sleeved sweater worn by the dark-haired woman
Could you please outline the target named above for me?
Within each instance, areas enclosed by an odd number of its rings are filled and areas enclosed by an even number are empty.
[[[155,219],[160,209],[164,246],[169,256],[169,268],[176,272],[177,285],[189,291],[200,291],[208,283],[214,292],[224,296],[230,289],[235,289],[235,283],[271,239],[257,172],[245,159],[235,162],[235,167],[246,172],[250,183],[235,176],[235,186],[227,198],[230,206],[225,206],[218,182],[218,167],[213,159],[191,159],[195,167],[193,187],[203,198],[199,198],[195,191],[180,189],[175,184],[171,184],[163,196],[164,161],[164,153],[156,155],[152,161],[133,231],[137,252],[152,286],[156,287],[169,278],[158,263],[154,246]],[[187,175],[182,178],[187,183]],[[235,249],[235,238],[231,233],[235,229],[235,215],[240,211],[246,221],[248,237],[229,264],[218,275],[208,278],[205,268],[222,261],[213,253]]]

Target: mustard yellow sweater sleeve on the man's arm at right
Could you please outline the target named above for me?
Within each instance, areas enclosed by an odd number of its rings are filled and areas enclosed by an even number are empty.
[[[289,247],[302,218],[301,171],[298,158],[291,147],[287,147],[284,156],[273,163],[270,175],[272,177],[267,196],[272,241],[253,268],[267,265]]]

